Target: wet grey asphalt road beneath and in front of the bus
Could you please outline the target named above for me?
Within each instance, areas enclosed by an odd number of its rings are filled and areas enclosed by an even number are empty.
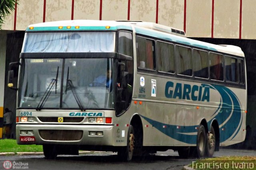
[[[219,156],[256,156],[256,150],[221,149],[214,153]],[[94,152],[79,156],[60,155],[56,160],[46,160],[43,155],[0,156],[0,169],[10,161],[12,169],[31,170],[180,170],[194,159],[180,159],[177,152],[168,150],[152,156],[136,158],[131,162],[120,162],[115,153]],[[5,163],[5,166],[8,164]],[[8,167],[7,167],[8,168]]]

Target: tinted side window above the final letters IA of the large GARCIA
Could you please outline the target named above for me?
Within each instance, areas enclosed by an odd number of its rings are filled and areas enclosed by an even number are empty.
[[[208,79],[208,53],[198,49],[193,49],[193,72],[194,77]]]

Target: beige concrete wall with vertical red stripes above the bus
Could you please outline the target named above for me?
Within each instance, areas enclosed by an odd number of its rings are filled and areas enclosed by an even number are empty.
[[[130,7],[130,8],[129,8]],[[4,30],[56,20],[143,20],[188,37],[256,39],[254,0],[20,0]]]

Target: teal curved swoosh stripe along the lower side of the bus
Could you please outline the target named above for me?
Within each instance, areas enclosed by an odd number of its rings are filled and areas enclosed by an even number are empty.
[[[242,109],[238,97],[227,87],[220,85],[210,85],[212,89],[217,90],[220,95],[220,105],[217,109],[218,113],[210,121],[208,125],[212,123],[214,119],[218,121],[220,126],[220,142],[226,140],[232,140],[240,131],[242,125]],[[215,113],[214,113],[215,114]],[[230,116],[231,115],[231,116]],[[158,129],[160,132],[167,136],[184,142],[187,144],[196,144],[197,139],[197,127],[195,126],[180,126],[180,125],[168,125],[158,121],[149,119],[148,117],[142,116],[148,123]],[[223,124],[224,123],[224,124]],[[223,124],[223,125],[222,125]],[[177,126],[179,128],[177,128]],[[163,128],[166,127],[166,128]],[[222,130],[224,128],[224,130]],[[195,133],[196,134],[186,134]],[[232,137],[233,136],[233,137]],[[232,139],[230,139],[232,137]]]

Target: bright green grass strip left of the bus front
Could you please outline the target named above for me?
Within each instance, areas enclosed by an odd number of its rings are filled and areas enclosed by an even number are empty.
[[[14,139],[1,139],[0,152],[43,152],[42,145],[20,145]]]

